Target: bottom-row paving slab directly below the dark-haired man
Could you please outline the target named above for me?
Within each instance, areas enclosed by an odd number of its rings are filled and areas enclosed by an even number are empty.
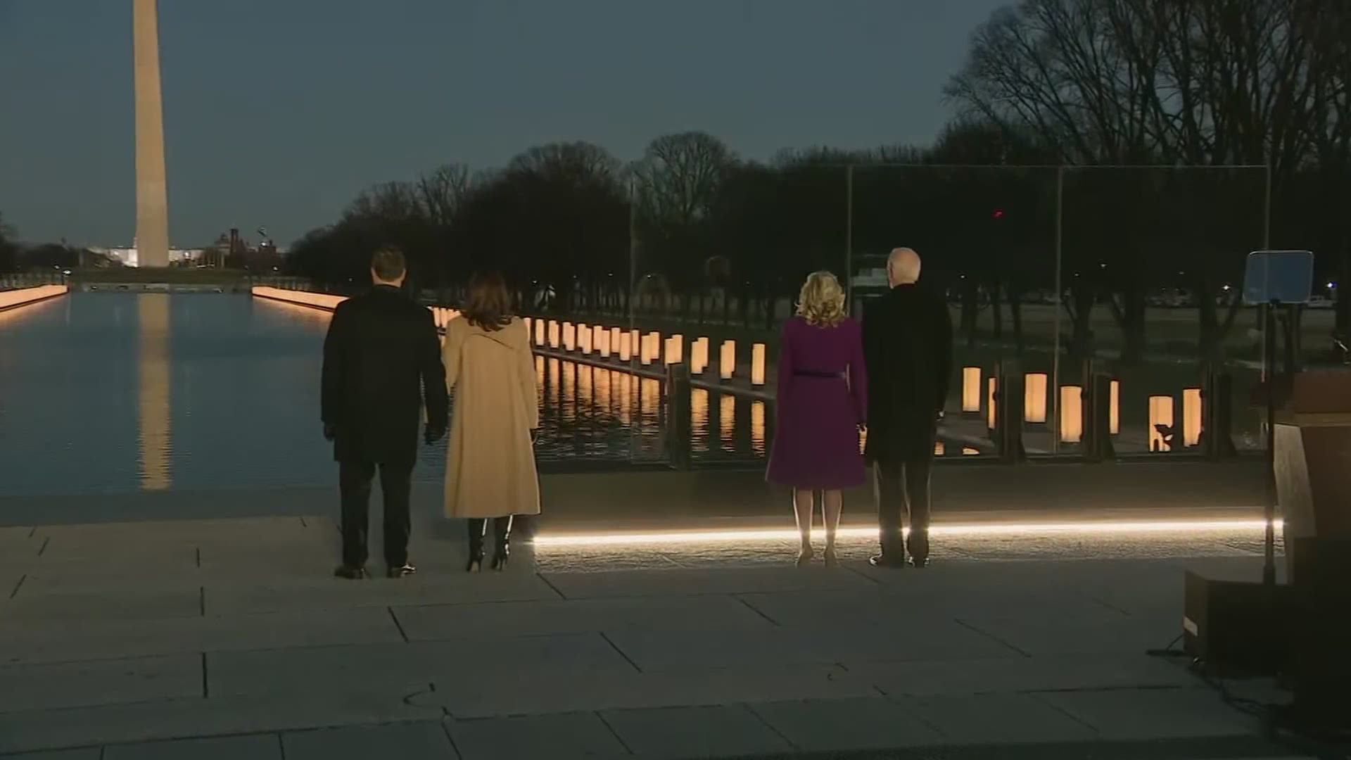
[[[442,721],[346,726],[281,734],[286,760],[454,760]]]

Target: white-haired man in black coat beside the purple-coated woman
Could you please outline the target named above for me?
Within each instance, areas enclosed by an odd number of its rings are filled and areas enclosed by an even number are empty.
[[[909,517],[915,567],[928,564],[929,468],[952,373],[952,318],[919,285],[920,257],[898,247],[886,260],[892,289],[863,318],[867,448],[882,553],[875,567],[904,567],[901,510]]]

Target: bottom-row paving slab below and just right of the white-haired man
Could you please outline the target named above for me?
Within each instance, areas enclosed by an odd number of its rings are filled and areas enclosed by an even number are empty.
[[[897,696],[946,744],[1059,744],[1097,738],[1097,730],[1027,694]]]

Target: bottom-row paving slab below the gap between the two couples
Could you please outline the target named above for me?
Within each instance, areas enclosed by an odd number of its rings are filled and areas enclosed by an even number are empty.
[[[605,710],[600,717],[639,757],[727,757],[792,746],[744,705]]]

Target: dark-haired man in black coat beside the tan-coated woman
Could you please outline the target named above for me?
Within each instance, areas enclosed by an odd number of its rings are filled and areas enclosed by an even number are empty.
[[[417,422],[427,404],[427,442],[446,434],[446,369],[432,314],[400,289],[407,266],[394,247],[370,260],[374,287],[334,310],[324,339],[322,414],[334,444],[342,492],[342,565],[334,575],[366,577],[370,483],[380,469],[385,496],[389,577],[408,564],[408,499],[417,458]]]

